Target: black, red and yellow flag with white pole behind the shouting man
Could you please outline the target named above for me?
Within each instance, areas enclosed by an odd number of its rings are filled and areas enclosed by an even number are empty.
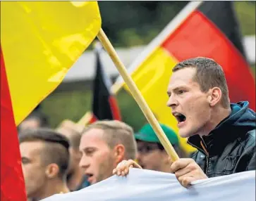
[[[179,61],[198,56],[213,58],[224,68],[232,102],[248,100],[255,110],[255,79],[245,60],[233,2],[192,1],[128,68],[159,122],[177,132],[176,119],[166,107],[171,70]],[[120,85],[121,77],[114,87]],[[182,138],[181,143],[193,150]]]

